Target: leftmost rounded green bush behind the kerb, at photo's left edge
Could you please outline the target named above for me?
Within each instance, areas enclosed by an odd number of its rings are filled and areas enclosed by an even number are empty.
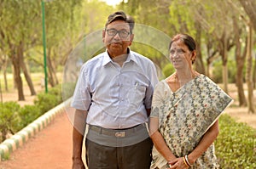
[[[8,132],[17,132],[19,109],[20,105],[13,101],[0,104],[0,132],[2,133],[2,140],[6,138]]]

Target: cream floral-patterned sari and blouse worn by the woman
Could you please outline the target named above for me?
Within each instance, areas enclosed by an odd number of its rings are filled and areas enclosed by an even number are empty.
[[[204,75],[196,76],[176,92],[163,80],[154,89],[150,116],[159,118],[159,132],[173,155],[183,157],[195,149],[231,101],[230,96]],[[168,168],[166,159],[155,147],[151,168]],[[218,168],[214,145],[190,168]]]

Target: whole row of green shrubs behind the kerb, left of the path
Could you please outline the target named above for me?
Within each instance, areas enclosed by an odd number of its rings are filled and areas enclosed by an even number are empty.
[[[14,134],[29,123],[36,120],[48,110],[60,104],[61,85],[49,89],[49,93],[39,93],[34,105],[25,105],[11,101],[0,104],[0,143],[6,139],[6,135],[11,132]]]

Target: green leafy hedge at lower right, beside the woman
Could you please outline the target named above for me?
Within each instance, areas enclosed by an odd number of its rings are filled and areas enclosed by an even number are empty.
[[[220,168],[256,168],[256,131],[238,123],[230,115],[219,119],[220,133],[215,141]]]

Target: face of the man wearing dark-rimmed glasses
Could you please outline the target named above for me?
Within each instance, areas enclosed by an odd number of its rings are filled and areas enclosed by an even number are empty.
[[[108,49],[111,58],[127,54],[127,48],[131,45],[133,34],[130,26],[124,20],[115,20],[102,32],[103,42]]]

